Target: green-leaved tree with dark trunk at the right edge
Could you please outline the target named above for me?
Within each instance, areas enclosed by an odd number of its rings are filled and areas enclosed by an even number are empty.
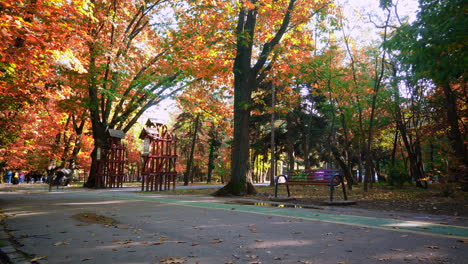
[[[442,91],[445,102],[447,135],[452,145],[451,174],[453,180],[466,177],[466,103],[467,17],[465,1],[420,0],[416,21],[400,27],[390,47],[404,70],[415,82],[432,82]],[[428,83],[428,82],[426,82]],[[466,182],[466,178],[464,179]],[[466,186],[466,184],[465,184]]]

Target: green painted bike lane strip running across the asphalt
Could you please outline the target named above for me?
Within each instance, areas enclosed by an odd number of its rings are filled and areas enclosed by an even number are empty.
[[[113,197],[129,199],[129,200],[143,200],[159,202],[164,204],[172,204],[179,206],[189,206],[206,209],[218,209],[232,211],[235,209],[239,212],[262,214],[269,216],[282,216],[288,218],[303,219],[308,221],[320,221],[327,223],[335,223],[342,225],[352,225],[360,227],[368,227],[375,229],[383,229],[397,232],[411,232],[422,235],[432,235],[439,237],[457,238],[457,239],[468,239],[468,227],[453,226],[453,225],[441,225],[430,222],[421,221],[405,221],[395,220],[368,216],[355,216],[355,215],[335,215],[327,214],[317,211],[311,211],[313,209],[287,209],[281,207],[266,208],[255,205],[240,205],[240,204],[225,204],[219,202],[199,202],[192,200],[178,200],[160,197],[148,197],[148,196],[132,196],[118,193],[101,193],[108,194]],[[106,195],[106,196],[108,196]]]

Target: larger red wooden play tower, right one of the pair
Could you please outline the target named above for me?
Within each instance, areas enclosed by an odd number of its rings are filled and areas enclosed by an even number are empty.
[[[166,125],[156,119],[148,119],[140,139],[144,140],[141,190],[169,190],[171,185],[175,189],[177,138]]]

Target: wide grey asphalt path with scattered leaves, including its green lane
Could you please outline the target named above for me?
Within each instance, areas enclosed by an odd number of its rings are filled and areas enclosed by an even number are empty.
[[[0,190],[9,241],[37,263],[467,263],[463,218],[238,200],[131,189]]]

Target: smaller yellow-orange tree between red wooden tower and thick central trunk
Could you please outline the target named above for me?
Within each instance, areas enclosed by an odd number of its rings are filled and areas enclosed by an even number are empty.
[[[202,175],[207,174],[206,181],[209,183],[216,167],[225,166],[215,164],[215,161],[230,130],[228,120],[232,105],[229,103],[230,96],[223,95],[226,88],[216,81],[200,81],[192,83],[177,98],[182,113],[177,116],[174,131],[178,135],[181,151],[187,154],[181,155],[181,161],[186,163],[185,185],[193,181],[195,168],[201,168]]]

